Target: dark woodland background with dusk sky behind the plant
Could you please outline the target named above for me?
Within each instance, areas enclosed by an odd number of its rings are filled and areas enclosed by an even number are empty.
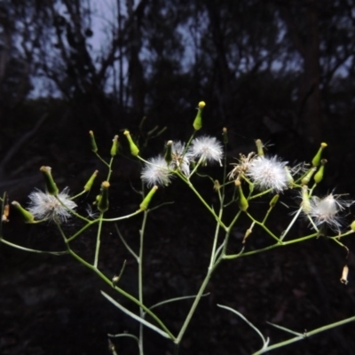
[[[107,2],[110,4],[110,2]],[[269,154],[288,162],[310,161],[320,142],[328,144],[322,196],[349,193],[353,198],[355,4],[352,0],[116,1],[114,21],[99,28],[91,2],[4,1],[0,4],[0,192],[26,205],[34,187],[42,187],[38,169],[49,165],[58,185],[79,192],[95,169],[94,130],[106,157],[114,134],[129,129],[142,144],[146,132],[167,127],[149,142],[146,157],[162,151],[169,139],[186,140],[195,106],[203,99],[203,132],[220,138],[229,131],[228,160],[254,150],[254,139],[269,142]],[[107,13],[108,18],[108,13]],[[112,19],[112,17],[110,17]],[[104,19],[105,20],[105,19]],[[96,49],[93,38],[99,36]],[[98,41],[98,39],[96,39]],[[139,126],[146,116],[143,130]],[[158,131],[156,130],[156,131]],[[122,138],[122,153],[127,153]],[[137,208],[139,169],[122,157],[114,168],[110,199],[113,215]],[[220,176],[220,170],[211,170]],[[204,180],[201,188],[210,193]],[[84,197],[83,206],[95,193]],[[283,196],[271,221],[273,230],[288,225],[295,194]],[[146,304],[191,295],[209,263],[213,220],[183,185],[158,193],[175,201],[151,214],[146,233]],[[213,200],[212,200],[213,201]],[[254,213],[267,208],[257,201]],[[236,208],[236,206],[235,206]],[[83,207],[84,209],[84,207]],[[345,218],[351,221],[351,210]],[[15,213],[4,225],[4,238],[28,248],[59,250],[52,225],[22,225]],[[345,221],[345,222],[346,222]],[[120,225],[138,245],[139,218]],[[77,225],[70,222],[67,231]],[[231,252],[241,248],[248,228],[241,220]],[[92,233],[91,233],[92,232]],[[292,236],[307,233],[300,221]],[[94,231],[75,248],[91,257]],[[285,334],[265,322],[298,332],[354,314],[354,242],[351,253],[326,238],[280,248],[263,255],[225,262],[209,285],[181,346],[182,354],[249,354],[260,347],[255,333],[226,304],[242,312],[272,342]],[[269,241],[255,231],[248,248]],[[111,292],[68,256],[36,256],[0,245],[0,353],[97,354],[107,351],[107,333],[137,332],[137,324],[99,294]],[[107,226],[102,265],[108,275],[128,266],[122,287],[136,292],[136,265]],[[349,264],[350,283],[339,279]],[[127,307],[131,304],[120,298]],[[187,312],[161,309],[175,331]],[[134,307],[132,308],[134,310]],[[339,327],[275,354],[355,353],[353,325]],[[118,353],[136,354],[131,340],[115,339]],[[146,354],[169,354],[160,337],[146,331]]]

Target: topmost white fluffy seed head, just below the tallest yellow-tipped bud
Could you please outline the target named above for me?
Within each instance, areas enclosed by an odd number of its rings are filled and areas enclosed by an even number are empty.
[[[214,137],[194,138],[188,153],[193,159],[201,159],[203,164],[207,162],[219,162],[222,166],[223,146]]]

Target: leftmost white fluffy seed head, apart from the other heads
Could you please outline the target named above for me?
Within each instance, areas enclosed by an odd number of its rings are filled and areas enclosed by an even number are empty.
[[[36,219],[40,220],[48,219],[56,223],[67,222],[67,218],[71,217],[68,209],[75,209],[77,207],[76,203],[70,200],[69,189],[67,187],[61,193],[58,193],[57,196],[43,193],[41,190],[36,189],[28,197],[30,200],[28,211]]]

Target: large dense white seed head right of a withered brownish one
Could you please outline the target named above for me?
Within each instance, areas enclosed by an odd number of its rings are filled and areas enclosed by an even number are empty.
[[[280,162],[276,155],[271,158],[257,156],[248,162],[246,175],[256,188],[279,193],[288,187],[288,175],[285,170],[287,163]]]

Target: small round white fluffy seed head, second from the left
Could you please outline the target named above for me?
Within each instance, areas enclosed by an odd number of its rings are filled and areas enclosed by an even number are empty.
[[[148,160],[142,170],[141,177],[148,187],[154,185],[166,186],[170,184],[171,172],[162,155],[158,155]]]

